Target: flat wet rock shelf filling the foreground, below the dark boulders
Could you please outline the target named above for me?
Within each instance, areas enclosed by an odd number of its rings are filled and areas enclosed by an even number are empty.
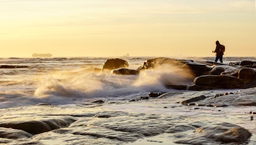
[[[255,93],[174,91],[136,102],[1,109],[0,143],[255,144]]]

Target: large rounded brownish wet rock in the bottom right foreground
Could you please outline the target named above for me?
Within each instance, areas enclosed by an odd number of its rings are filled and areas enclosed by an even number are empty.
[[[206,127],[200,127],[195,134],[187,135],[186,138],[175,141],[184,144],[212,144],[243,143],[251,136],[251,133],[240,126],[222,123]]]

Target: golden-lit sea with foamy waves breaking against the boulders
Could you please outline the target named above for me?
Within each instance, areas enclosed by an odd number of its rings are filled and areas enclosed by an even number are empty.
[[[124,57],[132,69],[154,57]],[[139,75],[122,76],[110,72],[94,72],[109,58],[0,58],[0,65],[29,66],[28,68],[0,69],[0,108],[49,103],[54,105],[79,104],[99,98],[124,100],[150,91],[175,91],[164,87],[164,82],[187,83],[189,74],[175,67],[150,69]],[[207,58],[181,58],[212,61]],[[224,63],[253,60],[255,57],[227,57]]]

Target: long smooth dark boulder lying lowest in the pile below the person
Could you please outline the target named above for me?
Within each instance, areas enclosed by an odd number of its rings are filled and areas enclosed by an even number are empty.
[[[243,81],[232,76],[201,76],[194,80],[196,85],[217,87],[217,88],[241,88]]]

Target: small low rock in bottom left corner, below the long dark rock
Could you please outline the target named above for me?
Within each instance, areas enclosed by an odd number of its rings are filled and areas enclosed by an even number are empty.
[[[11,128],[0,128],[0,138],[8,139],[20,139],[20,138],[30,138],[33,135],[25,132],[23,130],[16,130]]]

